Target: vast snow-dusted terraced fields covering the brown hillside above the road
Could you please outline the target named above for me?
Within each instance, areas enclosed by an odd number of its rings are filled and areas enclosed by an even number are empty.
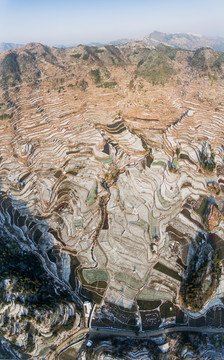
[[[63,316],[90,301],[92,327],[223,326],[221,75],[152,84],[129,46],[1,55],[1,227],[69,295]]]

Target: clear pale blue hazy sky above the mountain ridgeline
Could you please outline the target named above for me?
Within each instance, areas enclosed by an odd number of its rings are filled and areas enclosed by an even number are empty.
[[[0,0],[0,42],[71,45],[153,30],[224,37],[224,1]]]

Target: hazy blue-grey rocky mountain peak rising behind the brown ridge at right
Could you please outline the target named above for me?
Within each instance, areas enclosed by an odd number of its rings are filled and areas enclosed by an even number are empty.
[[[210,47],[217,51],[224,51],[224,38],[212,38],[197,34],[167,34],[154,31],[150,35],[146,36],[143,41],[149,46],[157,46],[162,43],[186,50],[196,50],[201,47]]]

